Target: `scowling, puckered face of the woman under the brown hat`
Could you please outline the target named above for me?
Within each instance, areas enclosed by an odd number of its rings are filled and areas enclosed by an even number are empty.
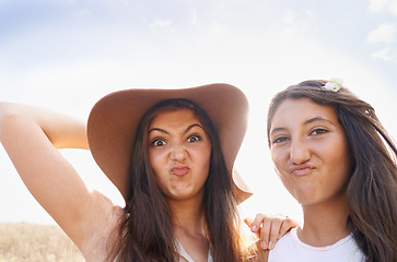
[[[159,114],[149,128],[149,159],[156,182],[170,200],[202,198],[211,143],[189,109]]]

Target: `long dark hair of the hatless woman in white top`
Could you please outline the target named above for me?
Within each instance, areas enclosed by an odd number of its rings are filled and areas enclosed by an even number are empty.
[[[346,87],[324,91],[326,81],[305,81],[271,100],[267,134],[284,99],[310,98],[331,106],[348,138],[352,171],[347,184],[348,228],[369,262],[397,261],[397,148],[367,103]]]

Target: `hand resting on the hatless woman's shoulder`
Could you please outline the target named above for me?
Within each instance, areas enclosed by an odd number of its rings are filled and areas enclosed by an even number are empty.
[[[273,249],[276,242],[284,236],[292,228],[299,226],[299,223],[290,217],[281,214],[270,215],[259,213],[255,219],[247,217],[244,219],[245,224],[255,233],[260,240],[260,248]]]

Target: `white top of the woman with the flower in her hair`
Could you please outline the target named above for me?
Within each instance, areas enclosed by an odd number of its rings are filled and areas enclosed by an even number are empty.
[[[326,247],[312,247],[302,242],[296,228],[283,236],[269,252],[269,262],[363,262],[364,255],[351,235]]]

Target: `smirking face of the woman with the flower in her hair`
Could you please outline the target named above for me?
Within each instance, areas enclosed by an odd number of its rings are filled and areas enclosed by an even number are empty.
[[[285,99],[271,119],[270,143],[284,187],[303,206],[343,198],[350,154],[332,107]]]

